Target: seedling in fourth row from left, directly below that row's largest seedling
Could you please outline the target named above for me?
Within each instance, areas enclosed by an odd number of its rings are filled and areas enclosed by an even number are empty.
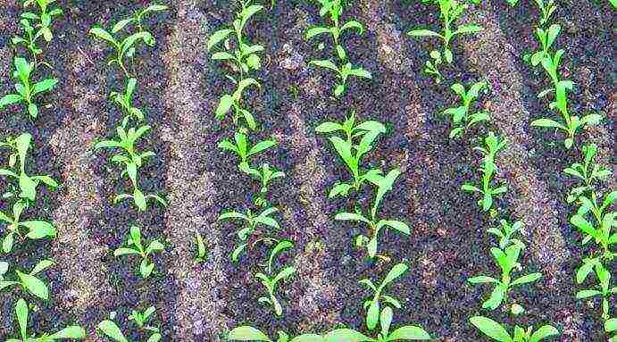
[[[374,184],[377,189],[377,195],[375,196],[375,202],[371,208],[370,215],[364,215],[361,213],[359,209],[356,210],[356,213],[338,213],[334,219],[339,221],[358,221],[365,223],[369,228],[368,236],[363,234],[358,235],[355,238],[355,246],[363,247],[365,246],[368,254],[371,258],[377,255],[377,241],[379,238],[379,231],[385,227],[389,227],[397,230],[400,233],[405,235],[409,235],[409,226],[403,221],[396,220],[384,220],[379,219],[377,217],[377,210],[379,208],[379,204],[381,204],[381,200],[386,195],[388,191],[392,189],[392,185],[394,184],[396,178],[401,174],[401,171],[395,169],[389,171],[386,176],[381,176],[379,174],[371,175],[369,180],[372,184]]]

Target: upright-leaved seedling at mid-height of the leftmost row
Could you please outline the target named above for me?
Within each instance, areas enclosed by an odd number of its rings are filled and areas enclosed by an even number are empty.
[[[6,138],[6,141],[0,142],[0,148],[6,147],[11,149],[9,155],[9,169],[0,169],[0,176],[15,179],[18,182],[18,188],[11,185],[10,190],[5,192],[4,198],[19,196],[25,199],[27,204],[34,202],[37,197],[37,188],[40,183],[43,183],[47,188],[58,188],[58,183],[47,175],[29,176],[26,173],[26,158],[28,150],[32,146],[32,136],[29,133],[22,133],[17,138]],[[15,164],[19,160],[19,171],[12,171]],[[14,209],[14,208],[13,208]]]

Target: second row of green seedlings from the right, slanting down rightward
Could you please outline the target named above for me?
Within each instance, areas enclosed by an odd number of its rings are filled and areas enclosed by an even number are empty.
[[[459,3],[455,0],[438,0],[437,1],[440,18],[443,23],[443,28],[440,33],[429,29],[413,29],[408,34],[412,37],[436,37],[443,40],[442,51],[433,50],[430,52],[430,60],[425,63],[424,72],[433,76],[437,83],[443,81],[441,72],[438,66],[445,60],[446,63],[452,63],[454,56],[450,47],[452,38],[460,34],[471,34],[482,30],[479,25],[458,25],[457,20],[468,9],[469,5]],[[454,83],[450,86],[456,96],[460,97],[460,105],[455,105],[447,108],[443,114],[452,118],[452,129],[449,133],[449,138],[461,138],[468,129],[477,125],[480,122],[490,121],[490,114],[484,111],[475,111],[473,104],[479,98],[482,92],[488,93],[488,83],[486,80],[480,80],[471,83],[469,88],[465,88],[461,83]],[[483,146],[476,146],[474,150],[482,154],[482,160],[479,167],[481,178],[477,182],[467,182],[463,184],[462,190],[479,196],[478,206],[483,213],[488,213],[493,220],[496,219],[497,210],[494,209],[495,197],[504,194],[507,191],[507,186],[498,184],[495,181],[498,172],[496,166],[496,158],[498,153],[504,149],[507,144],[506,139],[496,136],[493,132],[488,132],[488,136],[482,138]],[[525,275],[516,275],[514,272],[521,272],[522,266],[519,262],[521,252],[525,248],[524,243],[517,235],[522,229],[521,221],[508,221],[505,219],[499,220],[497,227],[488,229],[488,233],[496,238],[496,246],[491,246],[490,254],[495,260],[496,266],[500,271],[499,276],[491,277],[487,275],[479,275],[468,279],[470,284],[487,284],[492,287],[492,291],[488,299],[482,304],[482,309],[494,311],[502,305],[507,305],[510,292],[517,287],[537,281],[542,277],[539,272],[529,273]],[[513,303],[510,306],[510,313],[520,315],[525,309],[520,305]],[[538,342],[544,338],[559,335],[559,331],[551,325],[544,325],[538,329],[533,327],[522,328],[515,326],[512,333],[509,333],[506,327],[497,321],[494,321],[486,316],[477,315],[470,318],[471,325],[479,329],[488,338],[496,341],[512,342]]]

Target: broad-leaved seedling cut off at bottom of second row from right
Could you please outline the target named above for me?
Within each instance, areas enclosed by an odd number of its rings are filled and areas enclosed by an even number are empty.
[[[537,330],[534,330],[533,327],[523,329],[517,325],[514,327],[514,334],[510,335],[504,325],[490,318],[473,316],[469,321],[486,336],[498,342],[539,342],[545,338],[559,336],[559,330],[552,325],[543,325]]]

